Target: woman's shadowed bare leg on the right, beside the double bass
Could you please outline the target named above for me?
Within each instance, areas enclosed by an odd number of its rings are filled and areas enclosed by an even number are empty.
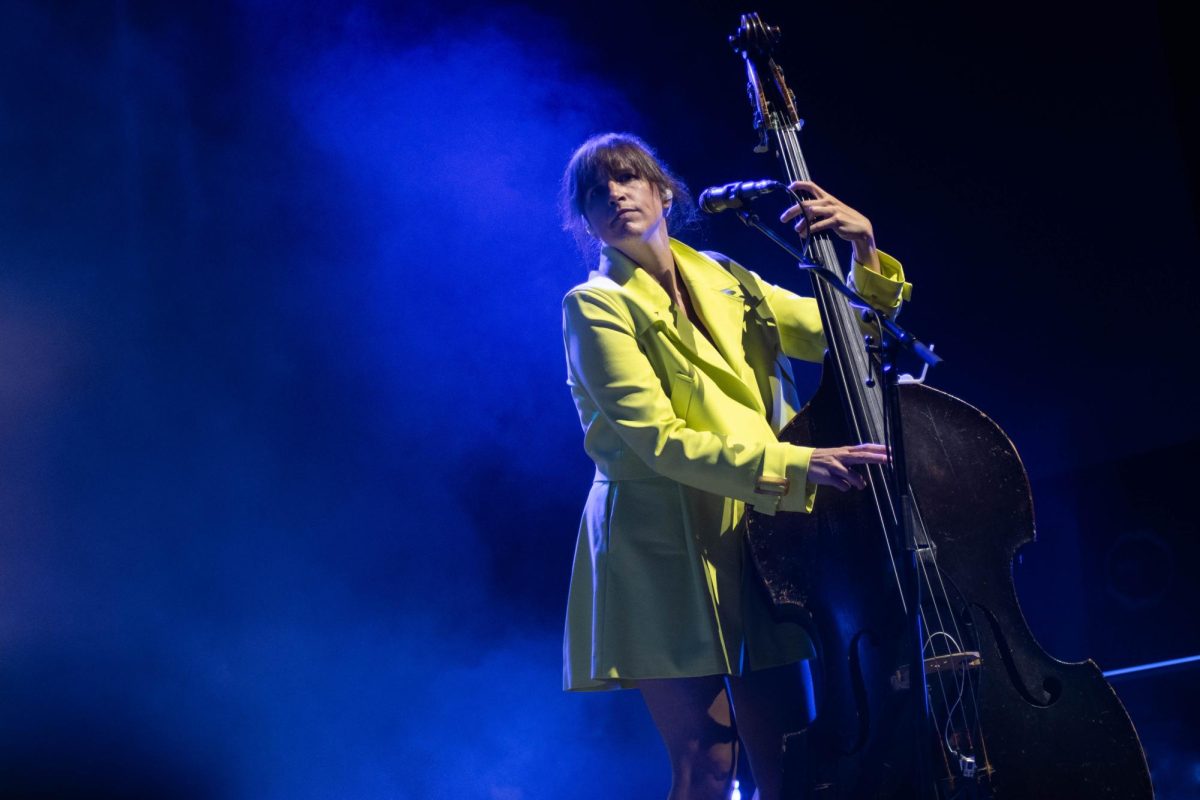
[[[728,678],[738,736],[745,745],[758,792],[779,800],[784,780],[784,735],[811,721],[808,662],[772,667]]]

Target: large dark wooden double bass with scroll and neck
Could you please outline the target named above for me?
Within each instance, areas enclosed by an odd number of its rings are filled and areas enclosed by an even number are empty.
[[[779,38],[751,13],[730,41],[756,150],[788,182],[810,180]],[[808,255],[845,275],[827,234]],[[1012,561],[1033,541],[1033,504],[1013,443],[964,401],[896,380],[883,331],[864,344],[860,309],[821,279],[814,294],[822,379],[780,440],[886,441],[899,464],[870,467],[863,492],[822,493],[811,515],[748,518],[775,612],[817,649],[816,717],[785,738],[785,796],[1151,799],[1138,734],[1100,670],[1049,656],[1021,614]]]

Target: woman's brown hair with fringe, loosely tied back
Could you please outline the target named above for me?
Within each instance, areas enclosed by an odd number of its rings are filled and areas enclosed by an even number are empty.
[[[601,133],[578,146],[566,163],[558,192],[563,230],[575,236],[586,255],[595,255],[600,242],[588,233],[583,203],[588,190],[613,175],[629,172],[658,187],[667,205],[666,218],[672,228],[683,228],[696,218],[696,206],[683,181],[659,161],[650,146],[632,133]],[[668,199],[670,198],[670,199]]]

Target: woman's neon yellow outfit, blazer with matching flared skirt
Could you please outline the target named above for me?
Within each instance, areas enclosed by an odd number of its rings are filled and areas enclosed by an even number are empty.
[[[811,450],[778,434],[799,409],[788,356],[824,354],[816,301],[731,267],[754,282],[748,290],[708,255],[676,240],[671,249],[714,342],[614,248],[563,299],[568,385],[596,465],[568,597],[568,690],[812,655],[744,569],[739,523],[745,504],[812,510]],[[856,265],[852,279],[872,305],[895,308],[910,285],[898,261],[880,260],[882,275]],[[761,479],[790,489],[764,495]]]

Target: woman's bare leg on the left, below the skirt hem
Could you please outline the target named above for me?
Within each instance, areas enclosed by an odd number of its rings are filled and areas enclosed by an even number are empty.
[[[733,778],[733,726],[721,675],[637,682],[671,758],[667,800],[725,800]]]

